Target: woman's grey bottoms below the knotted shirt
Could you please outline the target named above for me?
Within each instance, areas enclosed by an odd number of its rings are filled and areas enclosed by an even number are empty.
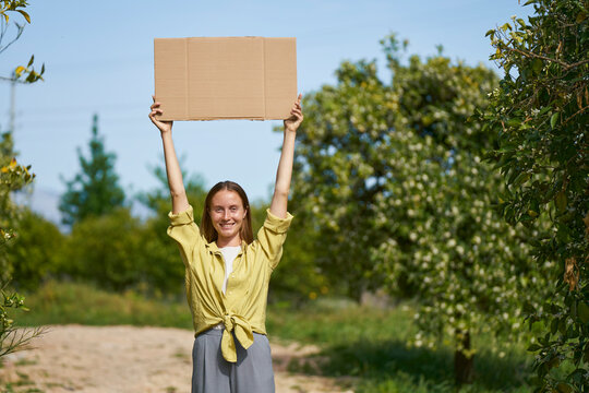
[[[268,338],[254,333],[244,349],[235,337],[237,362],[223,358],[223,330],[211,329],[194,338],[192,393],[274,393],[274,370]]]

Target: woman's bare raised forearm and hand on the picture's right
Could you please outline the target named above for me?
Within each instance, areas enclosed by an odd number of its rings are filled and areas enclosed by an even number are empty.
[[[290,178],[292,176],[292,162],[294,159],[294,138],[297,129],[303,121],[301,108],[302,94],[299,97],[292,109],[290,117],[285,120],[285,139],[283,142],[283,152],[278,170],[276,171],[276,184],[274,186],[274,195],[272,196],[271,213],[280,218],[287,217],[288,192],[290,191]]]

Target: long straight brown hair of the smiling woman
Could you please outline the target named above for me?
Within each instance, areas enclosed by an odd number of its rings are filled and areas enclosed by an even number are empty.
[[[218,234],[215,230],[215,227],[213,226],[213,221],[211,219],[211,202],[213,201],[213,196],[219,191],[228,190],[228,191],[235,191],[238,193],[239,198],[241,198],[241,202],[243,203],[243,209],[245,209],[245,218],[243,218],[243,222],[241,223],[241,229],[239,231],[239,236],[241,237],[241,240],[245,240],[245,242],[249,245],[253,241],[253,230],[252,230],[252,215],[250,212],[250,202],[248,201],[248,195],[245,195],[245,191],[239,186],[237,182],[233,181],[219,181],[213,188],[211,191],[208,191],[208,194],[206,195],[205,205],[204,205],[204,212],[203,217],[201,219],[201,230],[203,231],[203,235],[208,242],[213,242],[217,240]]]

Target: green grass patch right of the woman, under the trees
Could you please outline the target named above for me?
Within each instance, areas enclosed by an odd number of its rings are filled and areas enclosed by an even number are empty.
[[[321,344],[317,355],[324,376],[357,377],[357,392],[453,392],[454,352],[407,345],[414,333],[412,311],[407,307],[388,310],[353,305],[334,307],[315,303],[299,312],[273,309],[268,332],[281,338]],[[476,383],[464,392],[531,392],[526,379],[530,357],[524,344],[492,350],[491,337],[476,344]],[[298,365],[310,372],[314,368]],[[316,368],[315,368],[316,369]]]

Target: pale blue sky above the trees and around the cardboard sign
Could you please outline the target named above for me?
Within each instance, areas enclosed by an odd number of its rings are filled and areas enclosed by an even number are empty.
[[[299,91],[306,94],[334,83],[342,60],[377,59],[384,70],[378,40],[390,33],[409,40],[410,53],[426,57],[443,45],[453,60],[495,68],[484,33],[531,11],[517,0],[32,0],[33,23],[0,55],[0,75],[32,53],[46,66],[45,82],[19,85],[15,95],[16,150],[33,165],[39,198],[53,203],[65,189],[60,178],[79,170],[77,148],[86,152],[94,114],[117,155],[121,186],[133,195],[158,186],[149,167],[163,163],[158,131],[147,118],[155,37],[297,37]],[[0,82],[0,130],[9,127],[9,107],[10,86]],[[207,187],[235,180],[250,199],[268,200],[281,143],[272,129],[279,124],[177,122],[173,135],[184,167]]]

